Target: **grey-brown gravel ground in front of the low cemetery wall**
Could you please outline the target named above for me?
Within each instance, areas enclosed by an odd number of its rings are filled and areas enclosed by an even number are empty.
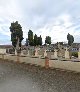
[[[0,60],[0,92],[80,92],[80,73]]]

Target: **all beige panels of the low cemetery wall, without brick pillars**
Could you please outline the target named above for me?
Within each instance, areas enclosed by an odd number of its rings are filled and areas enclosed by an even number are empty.
[[[2,58],[2,55],[0,55]],[[4,59],[17,61],[17,56],[4,55]],[[45,59],[35,58],[35,57],[19,57],[21,63],[30,63],[44,67]],[[80,72],[80,62],[72,62],[72,61],[59,61],[59,60],[49,60],[50,68],[60,68],[66,70],[72,70],[76,72]]]

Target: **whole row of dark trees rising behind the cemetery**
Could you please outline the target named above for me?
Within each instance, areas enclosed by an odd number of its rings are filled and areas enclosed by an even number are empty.
[[[18,51],[21,48],[21,42],[24,39],[23,38],[23,31],[21,25],[18,23],[18,21],[11,23],[10,26],[10,32],[11,32],[11,41],[13,47]],[[67,35],[68,45],[71,46],[74,42],[74,37],[68,33]],[[46,36],[45,38],[45,44],[51,44],[51,37]],[[60,43],[63,44],[63,43]],[[38,46],[42,45],[42,37],[37,36],[36,34],[33,34],[32,30],[29,30],[28,32],[28,38],[26,38],[26,46]]]

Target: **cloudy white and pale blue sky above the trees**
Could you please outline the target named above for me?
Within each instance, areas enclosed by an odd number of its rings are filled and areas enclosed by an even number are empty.
[[[0,0],[0,44],[11,44],[10,25],[18,21],[23,30],[23,44],[29,29],[43,43],[67,42],[67,34],[80,42],[80,0]]]

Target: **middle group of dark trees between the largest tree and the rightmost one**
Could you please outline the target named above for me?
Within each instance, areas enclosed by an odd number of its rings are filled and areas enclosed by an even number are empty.
[[[51,37],[46,36],[45,38],[45,44],[51,44]],[[41,46],[42,45],[42,37],[41,35],[38,37],[36,34],[34,35],[32,30],[29,30],[28,32],[28,39],[26,39],[26,46]]]

